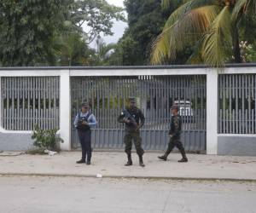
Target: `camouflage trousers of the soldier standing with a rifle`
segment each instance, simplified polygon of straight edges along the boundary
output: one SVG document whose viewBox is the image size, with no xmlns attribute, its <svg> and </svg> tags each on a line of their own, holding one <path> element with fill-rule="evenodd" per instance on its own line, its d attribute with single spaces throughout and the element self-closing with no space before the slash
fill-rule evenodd
<svg viewBox="0 0 256 213">
<path fill-rule="evenodd" d="M 138 156 L 143 156 L 144 150 L 142 147 L 142 137 L 139 131 L 125 131 L 125 153 L 127 153 L 127 155 L 131 155 L 132 141 L 134 141 Z"/>
</svg>

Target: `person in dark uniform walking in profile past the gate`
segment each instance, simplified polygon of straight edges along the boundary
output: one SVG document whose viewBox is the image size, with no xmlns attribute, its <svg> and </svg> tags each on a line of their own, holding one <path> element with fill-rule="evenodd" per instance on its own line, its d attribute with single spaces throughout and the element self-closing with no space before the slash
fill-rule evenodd
<svg viewBox="0 0 256 213">
<path fill-rule="evenodd" d="M 170 142 L 167 148 L 166 153 L 163 156 L 159 156 L 158 158 L 162 160 L 167 160 L 167 156 L 172 152 L 172 149 L 174 147 L 177 147 L 179 152 L 182 154 L 183 158 L 180 159 L 178 162 L 188 162 L 188 158 L 185 153 L 185 149 L 183 147 L 182 142 L 180 141 L 180 133 L 182 130 L 182 119 L 180 115 L 178 115 L 178 106 L 174 105 L 171 108 L 172 110 L 172 119 L 171 119 L 171 125 L 170 125 Z"/>
</svg>

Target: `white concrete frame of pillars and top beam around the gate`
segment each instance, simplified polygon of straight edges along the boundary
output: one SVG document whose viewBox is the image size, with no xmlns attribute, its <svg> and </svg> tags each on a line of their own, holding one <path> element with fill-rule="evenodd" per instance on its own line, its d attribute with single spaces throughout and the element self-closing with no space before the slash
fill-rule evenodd
<svg viewBox="0 0 256 213">
<path fill-rule="evenodd" d="M 219 73 L 218 73 L 219 72 Z M 60 94 L 60 130 L 64 139 L 61 149 L 71 150 L 71 120 L 70 120 L 70 77 L 73 76 L 137 76 L 137 75 L 207 75 L 207 154 L 218 153 L 218 74 L 222 73 L 256 73 L 256 65 L 250 67 L 229 67 L 225 70 L 207 69 L 206 67 L 115 67 L 115 68 L 1 68 L 1 77 L 21 76 L 59 76 L 61 84 Z M 0 81 L 1 82 L 1 81 Z M 0 85 L 1 88 L 1 85 Z M 0 90 L 1 94 L 1 90 Z M 0 110 L 1 116 L 1 110 Z M 0 126 L 0 134 L 31 134 L 25 131 L 3 130 Z M 221 135 L 222 138 L 225 135 Z M 227 135 L 228 136 L 228 135 Z M 255 135 L 250 135 L 255 136 Z M 1 142 L 1 141 L 0 141 Z"/>
</svg>

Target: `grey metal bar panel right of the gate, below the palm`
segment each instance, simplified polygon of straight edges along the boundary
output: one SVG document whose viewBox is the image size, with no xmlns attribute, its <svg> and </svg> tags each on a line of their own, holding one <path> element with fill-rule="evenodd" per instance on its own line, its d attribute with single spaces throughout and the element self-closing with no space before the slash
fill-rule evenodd
<svg viewBox="0 0 256 213">
<path fill-rule="evenodd" d="M 256 75 L 218 76 L 218 133 L 256 133 Z"/>
</svg>

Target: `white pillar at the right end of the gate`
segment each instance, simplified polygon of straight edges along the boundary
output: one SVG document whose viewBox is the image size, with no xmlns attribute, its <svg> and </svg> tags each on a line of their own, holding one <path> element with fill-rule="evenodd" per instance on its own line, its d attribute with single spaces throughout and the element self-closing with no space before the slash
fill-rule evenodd
<svg viewBox="0 0 256 213">
<path fill-rule="evenodd" d="M 218 146 L 218 70 L 207 72 L 207 154 L 217 154 Z"/>
</svg>

